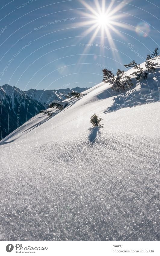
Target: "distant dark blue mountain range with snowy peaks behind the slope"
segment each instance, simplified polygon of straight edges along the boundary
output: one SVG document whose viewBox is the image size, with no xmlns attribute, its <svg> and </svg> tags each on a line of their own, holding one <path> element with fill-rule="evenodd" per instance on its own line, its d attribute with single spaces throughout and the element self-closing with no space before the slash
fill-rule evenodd
<svg viewBox="0 0 160 256">
<path fill-rule="evenodd" d="M 0 86 L 0 140 L 35 116 L 47 109 L 53 100 L 64 100 L 68 92 L 83 92 L 88 88 L 22 91 L 8 84 Z"/>
</svg>

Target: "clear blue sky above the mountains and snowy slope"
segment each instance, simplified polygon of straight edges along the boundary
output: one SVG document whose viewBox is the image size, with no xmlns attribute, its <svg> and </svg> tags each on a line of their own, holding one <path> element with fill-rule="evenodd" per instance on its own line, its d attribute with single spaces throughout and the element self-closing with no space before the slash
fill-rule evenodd
<svg viewBox="0 0 160 256">
<path fill-rule="evenodd" d="M 133 59 L 142 63 L 160 44 L 159 6 L 159 0 L 106 0 L 105 6 L 101 0 L 3 0 L 0 85 L 90 87 L 102 81 L 103 66 L 115 73 Z"/>
</svg>

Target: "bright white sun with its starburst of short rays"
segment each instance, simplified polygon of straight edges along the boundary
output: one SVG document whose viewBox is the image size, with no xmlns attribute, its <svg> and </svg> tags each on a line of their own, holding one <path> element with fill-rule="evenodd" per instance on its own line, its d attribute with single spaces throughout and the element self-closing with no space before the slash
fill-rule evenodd
<svg viewBox="0 0 160 256">
<path fill-rule="evenodd" d="M 127 24 L 121 22 L 122 18 L 127 15 L 121 11 L 125 4 L 124 1 L 122 0 L 118 5 L 114 6 L 115 1 L 109 1 L 110 4 L 108 5 L 106 0 L 102 0 L 101 4 L 99 0 L 94 0 L 94 4 L 91 6 L 87 1 L 80 0 L 85 8 L 83 8 L 83 11 L 79 11 L 82 19 L 79 26 L 86 27 L 86 35 L 93 32 L 89 43 L 93 43 L 95 38 L 99 36 L 101 43 L 104 43 L 105 38 L 107 38 L 109 44 L 115 48 L 111 33 L 124 37 L 119 28 L 127 28 Z"/>
</svg>

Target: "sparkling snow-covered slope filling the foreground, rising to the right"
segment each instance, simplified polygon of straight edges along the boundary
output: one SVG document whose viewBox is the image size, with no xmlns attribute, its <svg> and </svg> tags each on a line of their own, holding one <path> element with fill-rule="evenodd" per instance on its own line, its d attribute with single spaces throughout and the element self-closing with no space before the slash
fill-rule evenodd
<svg viewBox="0 0 160 256">
<path fill-rule="evenodd" d="M 50 108 L 52 117 L 40 113 L 2 140 L 2 240 L 159 239 L 155 61 L 156 71 L 132 90 L 118 94 L 98 84 L 61 112 Z M 91 127 L 94 113 L 103 128 Z"/>
</svg>

